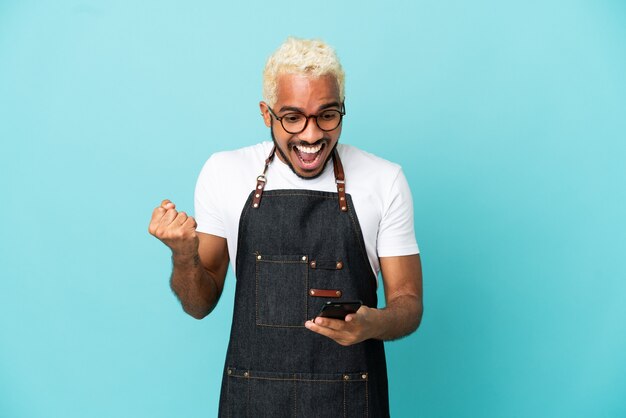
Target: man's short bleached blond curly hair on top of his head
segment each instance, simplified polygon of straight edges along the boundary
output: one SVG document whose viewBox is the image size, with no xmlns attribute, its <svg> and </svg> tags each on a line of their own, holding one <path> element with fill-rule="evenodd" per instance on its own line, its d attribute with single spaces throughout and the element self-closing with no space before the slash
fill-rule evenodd
<svg viewBox="0 0 626 418">
<path fill-rule="evenodd" d="M 263 100 L 270 106 L 278 99 L 281 74 L 331 75 L 337 80 L 339 99 L 344 101 L 345 73 L 335 50 L 323 41 L 290 36 L 267 59 L 263 70 Z"/>
</svg>

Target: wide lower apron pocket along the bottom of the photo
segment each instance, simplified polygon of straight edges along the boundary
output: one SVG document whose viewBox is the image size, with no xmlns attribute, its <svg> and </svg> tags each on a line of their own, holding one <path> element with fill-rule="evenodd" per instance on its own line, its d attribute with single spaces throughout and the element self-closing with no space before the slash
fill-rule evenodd
<svg viewBox="0 0 626 418">
<path fill-rule="evenodd" d="M 367 373 L 275 373 L 229 367 L 228 416 L 363 418 Z"/>
</svg>

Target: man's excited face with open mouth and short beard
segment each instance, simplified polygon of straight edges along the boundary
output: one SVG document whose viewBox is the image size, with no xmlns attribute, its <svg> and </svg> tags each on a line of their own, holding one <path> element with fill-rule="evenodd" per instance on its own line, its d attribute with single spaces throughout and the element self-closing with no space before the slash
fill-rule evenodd
<svg viewBox="0 0 626 418">
<path fill-rule="evenodd" d="M 283 74 L 278 78 L 278 98 L 272 110 L 278 117 L 300 112 L 318 115 L 324 110 L 341 110 L 339 87 L 333 76 L 308 77 Z M 278 157 L 302 178 L 319 176 L 330 159 L 341 134 L 341 124 L 332 131 L 322 131 L 310 118 L 306 129 L 291 134 L 274 118 L 265 102 L 260 103 L 265 125 L 272 131 Z"/>
</svg>

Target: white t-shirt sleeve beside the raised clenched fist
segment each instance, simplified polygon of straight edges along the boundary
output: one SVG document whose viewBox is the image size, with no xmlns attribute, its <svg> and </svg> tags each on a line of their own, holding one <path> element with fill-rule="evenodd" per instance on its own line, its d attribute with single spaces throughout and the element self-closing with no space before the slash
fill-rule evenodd
<svg viewBox="0 0 626 418">
<path fill-rule="evenodd" d="M 200 171 L 194 194 L 195 218 L 198 232 L 226 237 L 224 218 L 216 205 L 218 196 L 221 196 L 218 172 L 215 167 L 215 158 L 207 160 Z"/>
</svg>

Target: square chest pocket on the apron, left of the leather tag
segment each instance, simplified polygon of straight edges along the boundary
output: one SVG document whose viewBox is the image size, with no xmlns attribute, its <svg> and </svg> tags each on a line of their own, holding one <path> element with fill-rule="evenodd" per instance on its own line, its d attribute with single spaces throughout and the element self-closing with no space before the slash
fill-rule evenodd
<svg viewBox="0 0 626 418">
<path fill-rule="evenodd" d="M 266 255 L 256 259 L 256 324 L 304 327 L 307 318 L 308 257 Z"/>
</svg>

